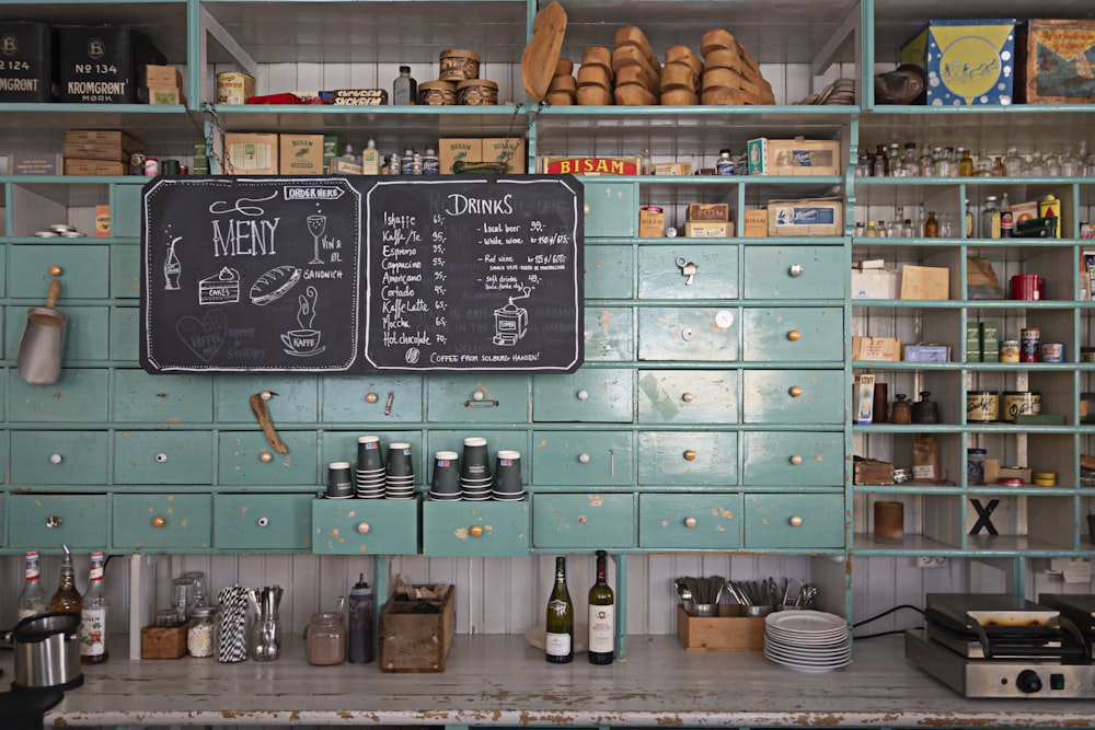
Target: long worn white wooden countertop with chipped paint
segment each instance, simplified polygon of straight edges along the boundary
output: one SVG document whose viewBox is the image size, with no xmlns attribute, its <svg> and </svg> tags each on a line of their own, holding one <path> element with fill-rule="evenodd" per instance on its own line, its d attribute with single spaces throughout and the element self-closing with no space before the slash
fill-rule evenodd
<svg viewBox="0 0 1095 730">
<path fill-rule="evenodd" d="M 458 636 L 445 671 L 425 674 L 311 667 L 296 637 L 269 663 L 112 658 L 84 668 L 84 685 L 45 725 L 1033 728 L 1095 716 L 1093 700 L 963 698 L 912 667 L 897 636 L 857 641 L 851 667 L 822 674 L 760 653 L 685 652 L 670 636 L 629 637 L 627 647 L 609 667 L 584 656 L 556 665 L 520 636 Z M 11 661 L 0 657 L 5 681 Z"/>
</svg>

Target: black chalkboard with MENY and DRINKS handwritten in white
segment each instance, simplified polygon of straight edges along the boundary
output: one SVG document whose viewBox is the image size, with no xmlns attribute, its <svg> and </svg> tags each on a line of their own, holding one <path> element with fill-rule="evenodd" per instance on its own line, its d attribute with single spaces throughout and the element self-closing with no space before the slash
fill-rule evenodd
<svg viewBox="0 0 1095 730">
<path fill-rule="evenodd" d="M 569 175 L 158 177 L 145 187 L 149 372 L 573 372 Z"/>
</svg>

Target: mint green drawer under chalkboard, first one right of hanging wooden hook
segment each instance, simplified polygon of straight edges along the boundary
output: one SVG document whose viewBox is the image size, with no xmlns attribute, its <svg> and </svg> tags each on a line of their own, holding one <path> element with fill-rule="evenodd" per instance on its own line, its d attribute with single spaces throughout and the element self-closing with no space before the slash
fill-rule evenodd
<svg viewBox="0 0 1095 730">
<path fill-rule="evenodd" d="M 417 375 L 324 378 L 320 414 L 326 424 L 396 425 L 422 420 Z"/>
</svg>

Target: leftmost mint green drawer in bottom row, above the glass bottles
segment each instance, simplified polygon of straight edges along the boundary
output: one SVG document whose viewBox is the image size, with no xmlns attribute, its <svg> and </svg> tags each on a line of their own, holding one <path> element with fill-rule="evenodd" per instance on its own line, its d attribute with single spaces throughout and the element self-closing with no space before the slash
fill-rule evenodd
<svg viewBox="0 0 1095 730">
<path fill-rule="evenodd" d="M 72 551 L 108 545 L 106 495 L 8 495 L 8 547 Z"/>
</svg>

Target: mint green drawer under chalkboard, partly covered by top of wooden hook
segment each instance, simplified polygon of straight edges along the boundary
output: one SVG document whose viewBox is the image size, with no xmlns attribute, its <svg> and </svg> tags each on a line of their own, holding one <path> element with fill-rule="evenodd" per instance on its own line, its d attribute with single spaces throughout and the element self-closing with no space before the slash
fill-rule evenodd
<svg viewBox="0 0 1095 730">
<path fill-rule="evenodd" d="M 254 424 L 251 396 L 275 393 L 266 407 L 277 427 L 286 424 L 314 424 L 319 415 L 320 386 L 315 375 L 215 375 L 214 417 L 221 422 Z"/>
</svg>

